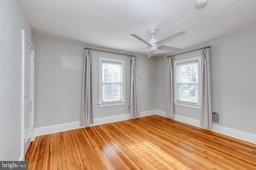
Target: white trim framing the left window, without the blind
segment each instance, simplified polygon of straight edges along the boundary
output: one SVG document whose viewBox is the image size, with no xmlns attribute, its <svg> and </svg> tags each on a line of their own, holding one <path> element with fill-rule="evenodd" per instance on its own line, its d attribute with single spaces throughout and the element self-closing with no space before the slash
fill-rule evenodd
<svg viewBox="0 0 256 170">
<path fill-rule="evenodd" d="M 122 63 L 122 101 L 120 102 L 104 102 L 102 103 L 102 62 L 103 61 L 107 61 L 107 62 L 111 62 L 111 63 Z M 120 105 L 124 105 L 125 104 L 125 98 L 124 98 L 124 60 L 117 60 L 117 59 L 109 59 L 109 58 L 102 58 L 99 57 L 99 107 L 108 107 L 108 106 L 120 106 Z"/>
</svg>

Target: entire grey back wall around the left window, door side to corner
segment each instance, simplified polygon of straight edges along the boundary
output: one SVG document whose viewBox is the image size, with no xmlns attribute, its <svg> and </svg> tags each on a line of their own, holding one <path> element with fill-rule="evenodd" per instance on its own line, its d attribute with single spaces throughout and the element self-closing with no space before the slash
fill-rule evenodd
<svg viewBox="0 0 256 170">
<path fill-rule="evenodd" d="M 40 36 L 35 37 L 35 46 L 35 127 L 80 121 L 84 47 L 90 46 Z M 125 105 L 98 107 L 99 57 L 125 61 Z M 156 108 L 155 61 L 137 56 L 140 111 Z M 129 113 L 130 65 L 128 56 L 92 50 L 94 119 Z"/>
</svg>

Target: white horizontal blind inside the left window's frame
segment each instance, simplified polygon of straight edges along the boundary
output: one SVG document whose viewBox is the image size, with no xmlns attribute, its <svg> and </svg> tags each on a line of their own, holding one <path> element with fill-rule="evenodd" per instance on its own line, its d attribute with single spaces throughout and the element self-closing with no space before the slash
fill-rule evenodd
<svg viewBox="0 0 256 170">
<path fill-rule="evenodd" d="M 122 101 L 122 63 L 102 61 L 102 103 Z"/>
</svg>

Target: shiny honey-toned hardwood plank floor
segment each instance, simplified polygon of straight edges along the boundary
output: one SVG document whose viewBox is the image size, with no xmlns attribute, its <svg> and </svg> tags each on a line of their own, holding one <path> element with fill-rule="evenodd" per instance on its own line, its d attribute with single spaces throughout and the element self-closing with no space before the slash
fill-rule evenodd
<svg viewBox="0 0 256 170">
<path fill-rule="evenodd" d="M 36 137 L 29 170 L 253 170 L 256 145 L 158 115 Z"/>
</svg>

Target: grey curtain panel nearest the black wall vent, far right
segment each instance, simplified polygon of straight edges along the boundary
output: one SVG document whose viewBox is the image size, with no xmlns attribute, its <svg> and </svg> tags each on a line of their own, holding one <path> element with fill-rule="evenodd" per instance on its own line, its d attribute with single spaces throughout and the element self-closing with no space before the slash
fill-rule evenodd
<svg viewBox="0 0 256 170">
<path fill-rule="evenodd" d="M 202 51 L 202 99 L 200 125 L 212 129 L 212 92 L 210 73 L 210 48 Z"/>
</svg>

